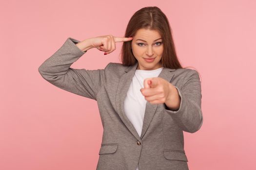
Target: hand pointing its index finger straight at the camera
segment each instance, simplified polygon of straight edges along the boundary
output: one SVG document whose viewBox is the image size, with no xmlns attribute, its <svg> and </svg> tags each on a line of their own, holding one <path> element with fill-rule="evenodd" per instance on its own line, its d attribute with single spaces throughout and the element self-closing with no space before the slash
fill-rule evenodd
<svg viewBox="0 0 256 170">
<path fill-rule="evenodd" d="M 140 89 L 145 100 L 151 104 L 165 103 L 171 110 L 177 110 L 180 97 L 177 88 L 160 77 L 146 78 L 144 88 Z"/>
</svg>

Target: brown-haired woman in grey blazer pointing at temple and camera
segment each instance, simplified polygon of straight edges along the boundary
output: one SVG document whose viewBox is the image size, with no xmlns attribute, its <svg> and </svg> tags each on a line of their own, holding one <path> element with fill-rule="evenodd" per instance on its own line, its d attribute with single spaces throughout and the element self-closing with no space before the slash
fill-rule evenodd
<svg viewBox="0 0 256 170">
<path fill-rule="evenodd" d="M 122 64 L 86 70 L 70 66 L 86 51 L 109 54 L 123 42 Z M 96 100 L 103 125 L 97 170 L 188 170 L 183 131 L 202 125 L 196 70 L 178 62 L 167 17 L 158 7 L 138 10 L 125 37 L 69 37 L 39 67 L 66 91 Z"/>
</svg>

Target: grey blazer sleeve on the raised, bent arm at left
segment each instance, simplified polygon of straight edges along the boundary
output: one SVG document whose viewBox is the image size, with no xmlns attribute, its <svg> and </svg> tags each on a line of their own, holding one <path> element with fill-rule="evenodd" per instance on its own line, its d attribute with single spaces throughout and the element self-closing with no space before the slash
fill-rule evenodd
<svg viewBox="0 0 256 170">
<path fill-rule="evenodd" d="M 38 68 L 40 75 L 52 85 L 71 93 L 96 100 L 100 87 L 105 82 L 104 69 L 75 69 L 70 66 L 87 51 L 81 51 L 79 40 L 68 37 L 64 44 Z"/>
</svg>

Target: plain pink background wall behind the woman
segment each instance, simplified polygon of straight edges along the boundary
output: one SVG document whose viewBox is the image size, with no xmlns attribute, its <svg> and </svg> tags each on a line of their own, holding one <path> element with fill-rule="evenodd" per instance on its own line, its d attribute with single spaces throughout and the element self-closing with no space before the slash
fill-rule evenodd
<svg viewBox="0 0 256 170">
<path fill-rule="evenodd" d="M 204 122 L 184 132 L 190 170 L 256 169 L 255 0 L 5 0 L 0 5 L 0 170 L 95 170 L 97 102 L 46 82 L 40 64 L 68 37 L 123 36 L 132 15 L 158 6 L 183 67 L 202 83 Z M 72 68 L 119 63 L 88 51 Z"/>
</svg>

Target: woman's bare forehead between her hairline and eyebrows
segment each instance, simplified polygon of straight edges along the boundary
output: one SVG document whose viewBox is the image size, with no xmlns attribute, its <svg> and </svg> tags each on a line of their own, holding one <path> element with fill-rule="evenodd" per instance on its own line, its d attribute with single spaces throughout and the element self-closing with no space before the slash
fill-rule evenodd
<svg viewBox="0 0 256 170">
<path fill-rule="evenodd" d="M 141 28 L 136 32 L 134 36 L 135 40 L 138 38 L 146 41 L 154 41 L 157 38 L 161 38 L 161 35 L 159 34 L 158 30 L 149 30 Z"/>
</svg>

